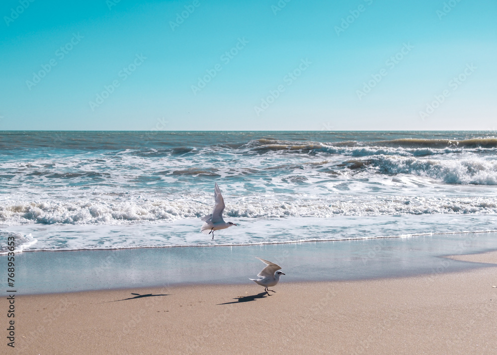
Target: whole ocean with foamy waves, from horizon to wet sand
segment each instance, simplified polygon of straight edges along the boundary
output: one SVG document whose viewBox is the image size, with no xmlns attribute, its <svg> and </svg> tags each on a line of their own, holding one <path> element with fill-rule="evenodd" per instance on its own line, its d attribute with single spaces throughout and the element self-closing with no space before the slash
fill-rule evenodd
<svg viewBox="0 0 497 355">
<path fill-rule="evenodd" d="M 4 131 L 0 253 L 497 231 L 496 185 L 496 132 Z"/>
</svg>

